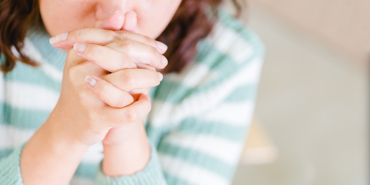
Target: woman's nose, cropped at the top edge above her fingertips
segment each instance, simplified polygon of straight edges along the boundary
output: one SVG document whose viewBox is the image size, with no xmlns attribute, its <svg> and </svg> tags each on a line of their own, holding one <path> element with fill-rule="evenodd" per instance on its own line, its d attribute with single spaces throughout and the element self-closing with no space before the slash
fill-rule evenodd
<svg viewBox="0 0 370 185">
<path fill-rule="evenodd" d="M 95 16 L 97 20 L 102 20 L 109 17 L 117 10 L 123 12 L 133 9 L 135 0 L 98 0 L 95 7 Z"/>
</svg>

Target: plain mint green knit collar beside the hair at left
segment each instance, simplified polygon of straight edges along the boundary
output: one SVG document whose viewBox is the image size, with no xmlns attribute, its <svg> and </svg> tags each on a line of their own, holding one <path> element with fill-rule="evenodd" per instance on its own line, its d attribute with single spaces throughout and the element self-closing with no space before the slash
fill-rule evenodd
<svg viewBox="0 0 370 185">
<path fill-rule="evenodd" d="M 26 38 L 31 41 L 44 60 L 58 70 L 63 71 L 67 53 L 62 49 L 51 46 L 49 42 L 50 36 L 45 29 L 30 28 L 27 31 Z"/>
</svg>

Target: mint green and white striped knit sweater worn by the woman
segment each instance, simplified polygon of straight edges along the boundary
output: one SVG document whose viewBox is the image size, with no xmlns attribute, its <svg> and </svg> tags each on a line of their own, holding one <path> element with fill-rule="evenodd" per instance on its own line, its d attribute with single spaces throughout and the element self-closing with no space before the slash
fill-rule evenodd
<svg viewBox="0 0 370 185">
<path fill-rule="evenodd" d="M 22 185 L 23 145 L 46 121 L 61 90 L 66 53 L 47 33 L 28 31 L 24 53 L 39 67 L 17 62 L 0 73 L 0 184 Z M 92 145 L 71 185 L 231 184 L 252 118 L 264 48 L 258 36 L 225 11 L 197 45 L 194 62 L 152 87 L 144 118 L 151 157 L 141 171 L 101 172 L 101 142 Z M 1 58 L 4 62 L 4 57 Z"/>
</svg>

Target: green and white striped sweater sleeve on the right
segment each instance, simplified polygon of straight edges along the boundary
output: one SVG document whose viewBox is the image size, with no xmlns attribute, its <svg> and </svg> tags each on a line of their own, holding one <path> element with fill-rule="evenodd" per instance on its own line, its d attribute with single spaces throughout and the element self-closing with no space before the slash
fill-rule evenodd
<svg viewBox="0 0 370 185">
<path fill-rule="evenodd" d="M 158 87 L 151 121 L 152 127 L 171 125 L 161 131 L 157 148 L 167 184 L 232 183 L 252 120 L 264 56 L 256 35 L 239 37 L 245 31 L 249 30 L 222 30 L 218 40 L 199 43 L 206 51 L 194 66 L 169 74 Z"/>
</svg>

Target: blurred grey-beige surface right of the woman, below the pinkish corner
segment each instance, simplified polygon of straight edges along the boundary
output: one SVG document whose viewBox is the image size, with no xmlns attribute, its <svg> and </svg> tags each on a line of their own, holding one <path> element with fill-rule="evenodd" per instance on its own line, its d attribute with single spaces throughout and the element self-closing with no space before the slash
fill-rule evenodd
<svg viewBox="0 0 370 185">
<path fill-rule="evenodd" d="M 279 154 L 240 165 L 233 185 L 369 185 L 369 75 L 323 36 L 249 8 L 266 48 L 255 115 Z"/>
</svg>

